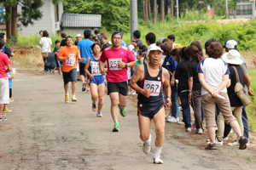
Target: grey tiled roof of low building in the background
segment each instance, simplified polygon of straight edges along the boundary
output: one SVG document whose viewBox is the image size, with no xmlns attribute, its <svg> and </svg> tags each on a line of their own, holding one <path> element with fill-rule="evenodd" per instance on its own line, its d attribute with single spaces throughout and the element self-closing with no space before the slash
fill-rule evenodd
<svg viewBox="0 0 256 170">
<path fill-rule="evenodd" d="M 66 14 L 61 15 L 61 27 L 102 27 L 101 14 Z"/>
</svg>

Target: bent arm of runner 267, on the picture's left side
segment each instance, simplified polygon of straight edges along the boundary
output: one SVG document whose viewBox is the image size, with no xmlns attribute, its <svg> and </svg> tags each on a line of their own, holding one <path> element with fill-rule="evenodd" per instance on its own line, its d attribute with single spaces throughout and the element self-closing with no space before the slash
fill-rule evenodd
<svg viewBox="0 0 256 170">
<path fill-rule="evenodd" d="M 140 65 L 137 67 L 133 76 L 131 77 L 129 86 L 131 86 L 131 88 L 133 88 L 135 91 L 137 91 L 137 93 L 143 94 L 145 97 L 149 98 L 149 96 L 151 94 L 151 90 L 148 88 L 147 89 L 140 88 L 137 85 L 138 81 L 143 80 L 143 74 L 144 74 L 144 65 Z"/>
</svg>

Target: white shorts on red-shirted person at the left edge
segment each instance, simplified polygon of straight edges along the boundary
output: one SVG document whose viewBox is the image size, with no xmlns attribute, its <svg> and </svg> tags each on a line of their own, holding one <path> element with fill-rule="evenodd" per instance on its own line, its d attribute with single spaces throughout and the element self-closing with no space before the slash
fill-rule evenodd
<svg viewBox="0 0 256 170">
<path fill-rule="evenodd" d="M 9 81 L 8 81 L 8 77 L 0 78 L 0 104 L 9 105 Z"/>
</svg>

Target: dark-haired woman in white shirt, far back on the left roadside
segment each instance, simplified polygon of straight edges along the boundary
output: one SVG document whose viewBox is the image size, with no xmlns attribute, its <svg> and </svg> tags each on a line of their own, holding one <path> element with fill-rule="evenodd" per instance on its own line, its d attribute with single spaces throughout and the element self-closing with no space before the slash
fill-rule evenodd
<svg viewBox="0 0 256 170">
<path fill-rule="evenodd" d="M 39 44 L 41 44 L 41 53 L 44 59 L 44 71 L 49 71 L 49 69 L 45 68 L 45 64 L 47 63 L 47 58 L 50 52 L 50 45 L 52 44 L 48 31 L 43 31 L 43 37 L 41 37 Z"/>
</svg>

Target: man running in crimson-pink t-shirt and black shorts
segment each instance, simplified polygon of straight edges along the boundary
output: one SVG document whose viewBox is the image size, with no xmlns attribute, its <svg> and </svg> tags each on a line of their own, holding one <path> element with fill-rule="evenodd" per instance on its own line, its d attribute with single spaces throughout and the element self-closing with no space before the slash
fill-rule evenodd
<svg viewBox="0 0 256 170">
<path fill-rule="evenodd" d="M 121 116 L 126 116 L 125 105 L 127 100 L 127 67 L 136 65 L 133 54 L 128 48 L 122 47 L 122 33 L 114 31 L 112 34 L 113 46 L 106 48 L 102 52 L 100 59 L 100 69 L 105 75 L 104 63 L 108 61 L 108 95 L 111 99 L 111 115 L 114 122 L 113 132 L 119 132 L 119 111 Z"/>
</svg>

